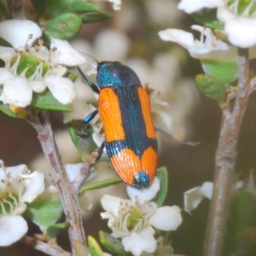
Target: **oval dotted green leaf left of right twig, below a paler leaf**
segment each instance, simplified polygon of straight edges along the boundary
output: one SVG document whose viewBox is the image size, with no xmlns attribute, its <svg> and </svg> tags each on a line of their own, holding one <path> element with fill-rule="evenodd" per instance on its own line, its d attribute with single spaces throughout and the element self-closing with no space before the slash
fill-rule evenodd
<svg viewBox="0 0 256 256">
<path fill-rule="evenodd" d="M 195 84 L 205 96 L 218 102 L 221 106 L 224 105 L 225 88 L 218 79 L 199 74 L 195 77 Z"/>
</svg>

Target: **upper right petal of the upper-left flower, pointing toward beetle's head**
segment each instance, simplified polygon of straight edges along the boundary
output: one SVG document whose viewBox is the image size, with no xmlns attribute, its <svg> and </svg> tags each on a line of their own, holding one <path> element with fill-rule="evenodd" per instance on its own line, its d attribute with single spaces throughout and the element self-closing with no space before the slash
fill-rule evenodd
<svg viewBox="0 0 256 256">
<path fill-rule="evenodd" d="M 55 61 L 58 64 L 66 65 L 68 67 L 78 66 L 84 64 L 86 61 L 84 56 L 65 40 L 51 38 L 50 49 L 55 50 Z"/>
</svg>

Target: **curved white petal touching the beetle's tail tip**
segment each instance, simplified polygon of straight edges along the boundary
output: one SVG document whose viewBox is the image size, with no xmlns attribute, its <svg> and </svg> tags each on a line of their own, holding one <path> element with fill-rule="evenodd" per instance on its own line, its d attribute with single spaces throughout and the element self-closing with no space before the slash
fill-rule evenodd
<svg viewBox="0 0 256 256">
<path fill-rule="evenodd" d="M 126 192 L 132 201 L 139 201 L 144 203 L 154 198 L 160 189 L 160 180 L 158 177 L 154 177 L 154 182 L 146 189 L 136 189 L 131 186 L 126 187 Z"/>
</svg>

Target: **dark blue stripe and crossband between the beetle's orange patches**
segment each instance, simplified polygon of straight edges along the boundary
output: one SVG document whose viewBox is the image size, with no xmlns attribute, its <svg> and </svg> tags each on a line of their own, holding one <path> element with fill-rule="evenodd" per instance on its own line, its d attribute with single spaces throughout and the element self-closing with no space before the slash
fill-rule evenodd
<svg viewBox="0 0 256 256">
<path fill-rule="evenodd" d="M 140 85 L 112 86 L 114 93 L 119 99 L 119 111 L 122 117 L 125 139 L 106 142 L 109 158 L 114 154 L 118 154 L 123 148 L 130 148 L 139 158 L 142 157 L 143 152 L 148 147 L 154 148 L 157 152 L 156 139 L 148 138 L 147 136 L 142 106 L 138 95 L 139 87 Z"/>
</svg>

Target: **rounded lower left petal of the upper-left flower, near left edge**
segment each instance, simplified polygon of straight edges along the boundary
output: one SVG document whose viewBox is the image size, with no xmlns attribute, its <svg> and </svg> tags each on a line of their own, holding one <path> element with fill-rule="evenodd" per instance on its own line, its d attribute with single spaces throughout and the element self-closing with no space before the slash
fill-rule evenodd
<svg viewBox="0 0 256 256">
<path fill-rule="evenodd" d="M 32 88 L 26 79 L 20 77 L 6 79 L 0 101 L 24 108 L 32 101 Z"/>
</svg>

